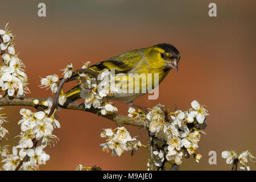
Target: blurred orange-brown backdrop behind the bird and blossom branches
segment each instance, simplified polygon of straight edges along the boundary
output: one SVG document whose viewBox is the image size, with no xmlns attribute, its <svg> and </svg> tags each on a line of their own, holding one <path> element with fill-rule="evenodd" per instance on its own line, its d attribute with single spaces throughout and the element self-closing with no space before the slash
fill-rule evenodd
<svg viewBox="0 0 256 182">
<path fill-rule="evenodd" d="M 158 100 L 143 96 L 135 104 L 160 104 L 188 109 L 191 101 L 207 105 L 207 135 L 202 135 L 200 163 L 185 159 L 183 170 L 229 170 L 221 158 L 224 150 L 242 152 L 255 146 L 255 1 L 43 1 L 46 18 L 39 18 L 42 1 L 1 2 L 0 22 L 7 22 L 16 36 L 16 51 L 26 65 L 31 94 L 53 97 L 40 89 L 40 77 L 57 73 L 73 63 L 97 63 L 130 49 L 170 43 L 181 53 L 179 73 L 171 71 L 160 84 Z M 217 17 L 208 16 L 210 2 L 217 3 Z M 68 89 L 72 85 L 66 87 Z M 118 112 L 127 106 L 115 102 Z M 5 107 L 9 123 L 9 144 L 16 145 L 21 107 Z M 61 129 L 54 134 L 60 141 L 47 147 L 51 156 L 42 170 L 73 170 L 78 164 L 97 164 L 104 170 L 144 170 L 147 151 L 141 148 L 130 156 L 110 156 L 99 147 L 102 129 L 115 127 L 112 121 L 81 111 L 61 110 Z M 127 127 L 146 142 L 144 129 Z M 2 143 L 2 144 L 6 144 Z M 208 152 L 217 152 L 217 165 L 209 165 Z M 249 163 L 252 170 L 255 163 Z"/>
</svg>

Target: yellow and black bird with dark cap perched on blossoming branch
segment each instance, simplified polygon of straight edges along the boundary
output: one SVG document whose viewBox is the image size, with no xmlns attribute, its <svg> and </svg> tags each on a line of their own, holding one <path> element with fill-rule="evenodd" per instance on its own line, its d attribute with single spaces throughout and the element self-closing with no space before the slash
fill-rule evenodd
<svg viewBox="0 0 256 182">
<path fill-rule="evenodd" d="M 104 69 L 114 69 L 115 74 L 122 75 L 123 77 L 128 77 L 130 73 L 136 74 L 141 79 L 139 84 L 134 84 L 134 87 L 139 85 L 139 93 L 121 92 L 115 94 L 113 97 L 109 97 L 110 100 L 126 101 L 127 103 L 133 102 L 137 97 L 142 96 L 145 92 L 142 92 L 143 86 L 146 88 L 154 89 L 156 86 L 163 81 L 168 72 L 171 69 L 178 71 L 177 64 L 180 60 L 180 53 L 171 44 L 156 44 L 155 46 L 134 49 L 131 51 L 123 52 L 117 56 L 113 56 L 105 61 L 94 64 L 90 67 L 93 71 L 101 73 Z M 158 81 L 154 81 L 154 77 L 148 76 L 148 73 L 154 75 L 158 74 Z M 146 75 L 146 81 L 142 80 L 141 75 Z M 118 78 L 119 80 L 120 77 Z M 126 78 L 129 80 L 128 78 Z M 136 80 L 136 79 L 135 79 Z M 148 87 L 148 84 L 151 87 Z M 122 90 L 127 90 L 127 86 L 123 86 Z M 135 88 L 136 89 L 136 88 Z M 150 92 L 152 89 L 147 89 L 146 93 Z M 66 93 L 68 100 L 75 100 L 79 98 L 81 88 L 79 85 L 75 86 L 73 89 Z"/>
</svg>

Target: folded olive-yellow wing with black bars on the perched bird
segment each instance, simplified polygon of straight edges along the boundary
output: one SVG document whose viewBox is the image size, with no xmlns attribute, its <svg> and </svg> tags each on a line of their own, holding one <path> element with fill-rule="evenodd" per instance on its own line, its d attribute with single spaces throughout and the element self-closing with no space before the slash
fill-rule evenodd
<svg viewBox="0 0 256 182">
<path fill-rule="evenodd" d="M 129 73 L 138 62 L 142 60 L 142 50 L 127 51 L 110 59 L 94 64 L 90 67 L 93 71 L 101 73 L 103 69 L 115 69 L 115 73 Z"/>
</svg>

